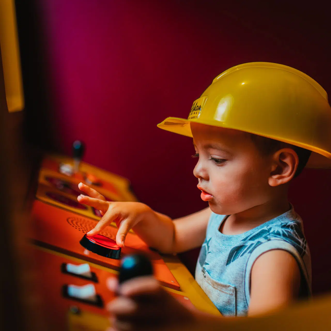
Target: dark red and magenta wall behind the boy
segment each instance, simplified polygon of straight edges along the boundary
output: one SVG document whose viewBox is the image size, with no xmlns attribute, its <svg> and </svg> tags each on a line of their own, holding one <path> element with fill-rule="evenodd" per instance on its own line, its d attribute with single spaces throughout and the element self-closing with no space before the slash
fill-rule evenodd
<svg viewBox="0 0 331 331">
<path fill-rule="evenodd" d="M 328 9 L 316 3 L 37 3 L 52 105 L 45 111 L 57 149 L 70 154 L 72 141 L 82 139 L 86 162 L 129 178 L 142 202 L 172 217 L 206 205 L 192 174 L 191 139 L 156 124 L 186 118 L 217 74 L 240 63 L 276 62 L 331 93 Z M 330 184 L 330 170 L 305 170 L 290 192 L 305 221 L 315 293 L 331 290 Z M 182 258 L 192 269 L 193 255 Z"/>
</svg>

